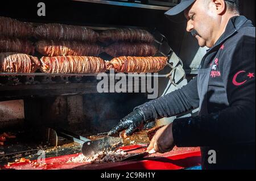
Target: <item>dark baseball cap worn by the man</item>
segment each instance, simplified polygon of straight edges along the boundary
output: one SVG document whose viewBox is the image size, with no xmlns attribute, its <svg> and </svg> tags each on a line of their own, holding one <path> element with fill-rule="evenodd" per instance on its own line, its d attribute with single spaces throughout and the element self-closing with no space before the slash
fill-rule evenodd
<svg viewBox="0 0 256 181">
<path fill-rule="evenodd" d="M 196 0 L 181 0 L 181 2 L 172 7 L 172 9 L 166 11 L 164 14 L 172 20 L 173 22 L 183 22 L 185 20 L 185 16 L 183 11 L 191 6 Z M 238 0 L 225 0 L 229 2 L 238 3 Z"/>
</svg>

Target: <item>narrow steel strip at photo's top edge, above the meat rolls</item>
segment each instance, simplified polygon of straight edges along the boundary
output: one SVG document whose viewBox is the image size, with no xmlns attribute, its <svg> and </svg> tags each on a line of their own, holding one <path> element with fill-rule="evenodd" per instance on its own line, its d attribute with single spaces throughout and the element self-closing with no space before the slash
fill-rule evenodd
<svg viewBox="0 0 256 181">
<path fill-rule="evenodd" d="M 104 0 L 73 0 L 73 1 L 101 3 L 105 5 L 114 5 L 114 6 L 138 7 L 138 8 L 153 9 L 153 10 L 170 10 L 171 8 L 167 6 L 144 5 L 141 3 L 118 2 L 118 1 L 104 1 Z"/>
</svg>

